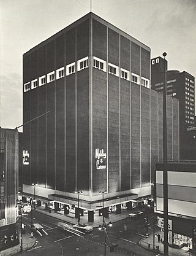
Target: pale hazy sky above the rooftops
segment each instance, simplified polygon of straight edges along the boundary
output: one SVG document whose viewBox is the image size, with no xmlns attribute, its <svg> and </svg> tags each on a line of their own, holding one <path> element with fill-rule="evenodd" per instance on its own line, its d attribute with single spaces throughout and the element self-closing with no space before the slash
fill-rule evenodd
<svg viewBox="0 0 196 256">
<path fill-rule="evenodd" d="M 2 128 L 23 123 L 23 53 L 88 12 L 90 0 L 0 0 Z M 92 12 L 196 76 L 196 0 L 92 0 Z"/>
</svg>

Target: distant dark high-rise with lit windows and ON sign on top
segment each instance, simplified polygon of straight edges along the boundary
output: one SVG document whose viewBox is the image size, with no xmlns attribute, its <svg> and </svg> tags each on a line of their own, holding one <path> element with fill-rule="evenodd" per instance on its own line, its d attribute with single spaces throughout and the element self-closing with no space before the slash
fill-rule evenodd
<svg viewBox="0 0 196 256">
<path fill-rule="evenodd" d="M 151 60 L 151 88 L 163 91 L 163 61 L 161 57 Z M 195 78 L 186 71 L 167 71 L 167 95 L 179 99 L 179 145 L 181 159 L 196 159 L 193 133 L 195 116 Z"/>
</svg>

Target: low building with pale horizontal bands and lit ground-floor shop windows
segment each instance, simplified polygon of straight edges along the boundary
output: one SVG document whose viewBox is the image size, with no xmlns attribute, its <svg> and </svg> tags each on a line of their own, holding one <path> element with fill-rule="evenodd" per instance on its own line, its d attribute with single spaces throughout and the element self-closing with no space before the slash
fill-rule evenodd
<svg viewBox="0 0 196 256">
<path fill-rule="evenodd" d="M 157 225 L 163 236 L 163 163 L 156 163 Z M 172 247 L 196 252 L 196 162 L 168 162 L 168 238 Z"/>
</svg>

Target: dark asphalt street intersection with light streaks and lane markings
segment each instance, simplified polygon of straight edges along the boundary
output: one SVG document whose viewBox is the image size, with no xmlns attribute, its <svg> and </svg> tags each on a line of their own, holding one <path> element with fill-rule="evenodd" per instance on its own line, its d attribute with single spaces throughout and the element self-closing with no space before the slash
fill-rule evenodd
<svg viewBox="0 0 196 256">
<path fill-rule="evenodd" d="M 34 223 L 41 224 L 48 236 L 35 235 L 37 245 L 34 249 L 26 252 L 26 255 L 40 255 L 40 256 L 104 256 L 104 231 L 99 231 L 98 228 L 90 233 L 85 233 L 77 236 L 70 231 L 65 231 L 58 227 L 58 220 L 40 214 L 34 211 Z M 112 227 L 107 227 L 107 254 L 110 254 L 110 244 L 118 243 L 115 247 L 113 256 L 148 256 L 157 255 L 157 253 L 150 252 L 138 246 L 137 242 L 146 233 L 145 215 L 140 215 L 136 218 L 124 219 L 113 223 Z M 152 216 L 149 215 L 149 222 L 152 222 Z M 107 223 L 107 219 L 106 219 Z M 25 217 L 26 229 L 31 231 L 31 214 Z M 152 232 L 149 226 L 149 233 Z"/>
</svg>

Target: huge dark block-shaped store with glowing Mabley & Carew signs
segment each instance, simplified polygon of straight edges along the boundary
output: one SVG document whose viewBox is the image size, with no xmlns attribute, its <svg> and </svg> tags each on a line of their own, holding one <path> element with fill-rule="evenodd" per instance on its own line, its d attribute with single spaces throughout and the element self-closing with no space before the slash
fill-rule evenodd
<svg viewBox="0 0 196 256">
<path fill-rule="evenodd" d="M 150 48 L 92 13 L 26 52 L 23 194 L 37 184 L 36 198 L 69 214 L 83 192 L 89 221 L 99 192 L 105 215 L 150 195 L 162 100 L 150 88 Z M 178 158 L 178 100 L 168 106 L 168 155 Z"/>
</svg>

